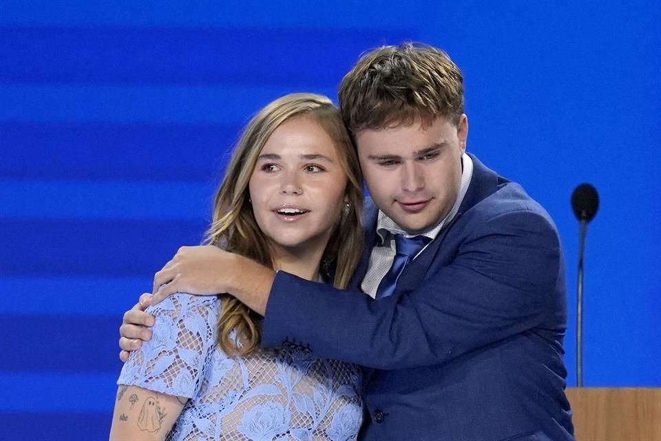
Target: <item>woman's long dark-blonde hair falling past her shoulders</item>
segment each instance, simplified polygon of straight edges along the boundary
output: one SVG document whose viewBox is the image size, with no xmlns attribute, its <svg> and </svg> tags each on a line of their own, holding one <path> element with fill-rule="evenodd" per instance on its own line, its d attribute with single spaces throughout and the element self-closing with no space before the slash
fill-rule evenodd
<svg viewBox="0 0 661 441">
<path fill-rule="evenodd" d="M 258 156 L 277 127 L 293 118 L 310 118 L 335 142 L 347 176 L 348 202 L 335 224 L 322 257 L 322 275 L 338 288 L 348 285 L 362 253 L 363 183 L 357 154 L 339 110 L 328 97 L 297 93 L 266 105 L 251 119 L 235 147 L 213 204 L 213 221 L 204 243 L 216 245 L 273 268 L 266 236 L 255 220 L 249 181 Z M 236 335 L 233 335 L 233 330 Z M 229 354 L 246 356 L 261 340 L 261 318 L 231 296 L 223 299 L 218 318 L 218 344 Z"/>
</svg>

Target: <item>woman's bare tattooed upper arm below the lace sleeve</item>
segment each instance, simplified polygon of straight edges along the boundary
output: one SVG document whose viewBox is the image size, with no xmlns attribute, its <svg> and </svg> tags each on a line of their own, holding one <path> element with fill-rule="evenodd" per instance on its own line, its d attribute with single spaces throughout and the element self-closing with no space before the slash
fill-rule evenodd
<svg viewBox="0 0 661 441">
<path fill-rule="evenodd" d="M 111 441 L 161 441 L 188 398 L 120 384 L 110 429 Z"/>
</svg>

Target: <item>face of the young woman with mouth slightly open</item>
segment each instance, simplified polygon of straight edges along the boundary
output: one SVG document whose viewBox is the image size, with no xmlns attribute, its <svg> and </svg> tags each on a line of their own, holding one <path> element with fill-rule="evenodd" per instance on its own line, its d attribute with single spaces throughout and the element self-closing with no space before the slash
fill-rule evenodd
<svg viewBox="0 0 661 441">
<path fill-rule="evenodd" d="M 255 219 L 276 252 L 322 251 L 346 183 L 335 143 L 313 119 L 298 116 L 277 127 L 249 183 Z"/>
</svg>

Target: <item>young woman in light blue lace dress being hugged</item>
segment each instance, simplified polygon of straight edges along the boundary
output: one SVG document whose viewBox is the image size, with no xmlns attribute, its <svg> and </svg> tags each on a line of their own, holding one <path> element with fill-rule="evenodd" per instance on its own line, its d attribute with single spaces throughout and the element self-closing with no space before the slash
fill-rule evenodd
<svg viewBox="0 0 661 441">
<path fill-rule="evenodd" d="M 287 95 L 246 127 L 206 242 L 346 287 L 362 198 L 339 110 L 325 96 Z M 260 349 L 259 316 L 230 296 L 175 294 L 147 311 L 154 336 L 122 369 L 111 440 L 357 438 L 357 367 L 297 346 Z"/>
</svg>

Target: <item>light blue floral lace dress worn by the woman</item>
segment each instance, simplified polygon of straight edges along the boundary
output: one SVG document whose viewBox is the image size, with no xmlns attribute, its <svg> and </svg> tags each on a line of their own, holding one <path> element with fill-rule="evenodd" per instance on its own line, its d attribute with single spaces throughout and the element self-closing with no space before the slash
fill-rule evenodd
<svg viewBox="0 0 661 441">
<path fill-rule="evenodd" d="M 149 307 L 154 336 L 117 381 L 189 398 L 167 440 L 355 440 L 359 369 L 300 347 L 227 356 L 216 345 L 221 302 L 176 294 Z"/>
</svg>

